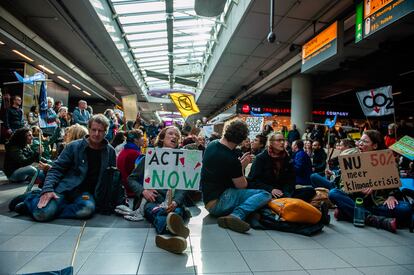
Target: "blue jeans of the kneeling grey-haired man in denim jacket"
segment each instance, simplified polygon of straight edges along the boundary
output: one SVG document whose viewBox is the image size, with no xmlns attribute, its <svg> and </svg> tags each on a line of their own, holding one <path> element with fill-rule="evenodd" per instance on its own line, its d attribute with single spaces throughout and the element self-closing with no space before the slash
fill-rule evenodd
<svg viewBox="0 0 414 275">
<path fill-rule="evenodd" d="M 34 220 L 46 222 L 55 218 L 87 219 L 95 212 L 95 200 L 87 192 L 77 196 L 73 201 L 65 199 L 63 194 L 56 195 L 59 196 L 59 199 L 50 200 L 43 208 L 37 207 L 41 196 L 39 193 L 32 193 L 26 197 L 24 203 Z M 83 195 L 87 195 L 89 198 L 85 200 L 82 198 Z"/>
</svg>

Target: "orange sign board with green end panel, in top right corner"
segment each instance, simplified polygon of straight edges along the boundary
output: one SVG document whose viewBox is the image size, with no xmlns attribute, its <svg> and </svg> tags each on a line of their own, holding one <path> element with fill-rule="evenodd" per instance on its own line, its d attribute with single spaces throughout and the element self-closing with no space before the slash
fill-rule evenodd
<svg viewBox="0 0 414 275">
<path fill-rule="evenodd" d="M 356 6 L 355 42 L 376 33 L 413 11 L 414 0 L 364 0 L 363 4 Z"/>
</svg>

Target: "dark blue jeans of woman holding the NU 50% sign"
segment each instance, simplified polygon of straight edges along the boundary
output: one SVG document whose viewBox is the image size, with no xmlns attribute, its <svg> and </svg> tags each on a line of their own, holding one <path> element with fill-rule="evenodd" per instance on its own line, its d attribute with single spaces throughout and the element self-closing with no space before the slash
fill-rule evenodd
<svg viewBox="0 0 414 275">
<path fill-rule="evenodd" d="M 344 220 L 353 221 L 355 201 L 345 192 L 335 188 L 329 191 L 329 200 L 336 204 L 340 215 Z M 366 214 L 374 214 L 389 218 L 396 218 L 399 226 L 408 226 L 411 221 L 412 208 L 408 202 L 398 201 L 394 209 L 388 209 L 386 205 L 366 207 Z"/>
</svg>

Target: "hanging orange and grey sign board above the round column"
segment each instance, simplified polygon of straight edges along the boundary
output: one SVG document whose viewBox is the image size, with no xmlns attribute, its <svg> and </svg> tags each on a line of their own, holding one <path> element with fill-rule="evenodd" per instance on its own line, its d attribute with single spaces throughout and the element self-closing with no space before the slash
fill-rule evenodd
<svg viewBox="0 0 414 275">
<path fill-rule="evenodd" d="M 341 24 L 342 25 L 342 24 Z M 338 34 L 342 29 L 338 21 L 327 27 L 302 47 L 302 70 L 306 72 L 338 53 Z"/>
</svg>

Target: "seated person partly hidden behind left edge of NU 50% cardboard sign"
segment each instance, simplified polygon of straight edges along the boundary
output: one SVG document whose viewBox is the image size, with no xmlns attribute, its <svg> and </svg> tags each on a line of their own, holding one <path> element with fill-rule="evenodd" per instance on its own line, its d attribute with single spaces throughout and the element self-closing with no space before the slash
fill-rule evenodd
<svg viewBox="0 0 414 275">
<path fill-rule="evenodd" d="M 355 148 L 355 142 L 349 138 L 342 139 L 339 142 L 339 150 L 341 151 L 341 156 L 359 152 L 359 150 Z M 323 187 L 329 190 L 339 187 L 341 170 L 339 168 L 338 158 L 331 159 L 329 166 L 329 168 L 325 169 L 325 176 L 322 176 L 319 173 L 313 173 L 311 175 L 310 180 L 313 187 Z"/>
</svg>

